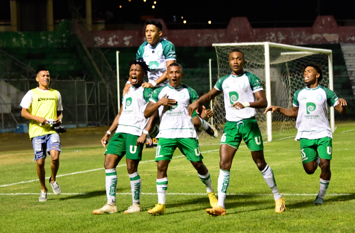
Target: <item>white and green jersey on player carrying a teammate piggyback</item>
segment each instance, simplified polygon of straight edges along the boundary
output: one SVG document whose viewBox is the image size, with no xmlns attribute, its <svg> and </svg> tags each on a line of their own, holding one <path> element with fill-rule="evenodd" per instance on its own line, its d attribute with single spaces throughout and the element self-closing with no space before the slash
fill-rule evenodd
<svg viewBox="0 0 355 233">
<path fill-rule="evenodd" d="M 116 133 L 142 135 L 142 131 L 148 123 L 148 119 L 144 117 L 144 110 L 152 92 L 152 88 L 130 87 L 130 91 L 122 98 L 122 113 L 118 120 Z"/>
</svg>

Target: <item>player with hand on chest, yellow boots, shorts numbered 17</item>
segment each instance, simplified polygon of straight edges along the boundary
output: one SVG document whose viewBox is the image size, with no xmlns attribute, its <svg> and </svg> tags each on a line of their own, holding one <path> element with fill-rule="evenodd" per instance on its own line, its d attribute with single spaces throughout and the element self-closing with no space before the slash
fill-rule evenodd
<svg viewBox="0 0 355 233">
<path fill-rule="evenodd" d="M 181 83 L 184 77 L 182 67 L 178 63 L 171 63 L 168 67 L 169 84 L 155 89 L 144 111 L 149 117 L 159 112 L 160 131 L 158 134 L 157 154 L 157 192 L 158 204 L 148 210 L 149 214 L 165 214 L 165 195 L 168 189 L 168 165 L 173 158 L 176 148 L 179 148 L 197 170 L 198 176 L 206 187 L 212 207 L 217 205 L 211 177 L 207 167 L 202 162 L 198 137 L 189 116 L 187 107 L 198 98 L 195 90 Z"/>
</svg>

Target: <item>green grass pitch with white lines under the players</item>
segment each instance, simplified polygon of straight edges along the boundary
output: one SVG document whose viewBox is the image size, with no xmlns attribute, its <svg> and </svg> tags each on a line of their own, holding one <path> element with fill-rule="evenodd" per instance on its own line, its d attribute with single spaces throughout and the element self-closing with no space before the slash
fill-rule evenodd
<svg viewBox="0 0 355 233">
<path fill-rule="evenodd" d="M 65 147 L 60 155 L 58 183 L 62 194 L 49 192 L 48 201 L 38 201 L 33 151 L 12 150 L 0 155 L 1 232 L 354 232 L 355 168 L 353 165 L 355 123 L 337 123 L 333 134 L 332 179 L 323 205 L 312 202 L 319 190 L 320 169 L 307 175 L 301 165 L 299 142 L 294 138 L 264 144 L 267 163 L 272 167 L 279 191 L 286 198 L 286 211 L 274 212 L 271 191 L 242 144 L 231 168 L 226 198 L 226 216 L 212 217 L 206 189 L 189 161 L 177 150 L 168 169 L 166 214 L 150 216 L 157 203 L 155 149 L 144 149 L 138 167 L 142 178 L 142 212 L 124 215 L 131 205 L 130 182 L 125 161 L 117 168 L 118 214 L 93 215 L 107 199 L 103 170 L 104 148 Z M 104 130 L 100 129 L 101 131 Z M 344 132 L 347 131 L 347 132 Z M 83 131 L 85 133 L 85 131 Z M 295 131 L 290 131 L 295 135 Z M 66 137 L 63 134 L 63 140 Z M 89 136 L 88 136 L 89 138 Z M 95 140 L 99 141 L 100 136 Z M 28 139 L 27 139 L 28 140 Z M 28 143 L 30 143 L 28 141 Z M 68 143 L 69 144 L 69 143 Z M 203 162 L 217 189 L 219 139 L 201 139 Z M 176 158 L 178 157 L 178 158 Z M 49 158 L 47 175 L 50 174 Z M 95 171 L 89 171 L 99 169 Z M 78 174 L 74 172 L 87 171 Z M 72 175 L 68 175 L 72 174 Z M 4 186 L 5 184 L 12 184 Z M 48 188 L 49 185 L 47 186 Z M 24 195 L 4 195 L 4 194 Z M 25 194 L 28 193 L 28 194 Z M 189 195 L 187 195 L 189 194 Z"/>
</svg>

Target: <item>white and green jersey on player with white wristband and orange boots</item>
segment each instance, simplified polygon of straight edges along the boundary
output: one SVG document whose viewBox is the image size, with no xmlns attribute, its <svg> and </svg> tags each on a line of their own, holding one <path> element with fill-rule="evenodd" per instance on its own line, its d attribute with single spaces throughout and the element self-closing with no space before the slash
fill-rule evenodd
<svg viewBox="0 0 355 233">
<path fill-rule="evenodd" d="M 225 118 L 228 121 L 248 119 L 256 114 L 255 108 L 235 109 L 232 105 L 236 102 L 254 102 L 254 93 L 263 90 L 260 79 L 249 72 L 235 76 L 233 74 L 218 79 L 214 88 L 223 91 Z"/>
</svg>

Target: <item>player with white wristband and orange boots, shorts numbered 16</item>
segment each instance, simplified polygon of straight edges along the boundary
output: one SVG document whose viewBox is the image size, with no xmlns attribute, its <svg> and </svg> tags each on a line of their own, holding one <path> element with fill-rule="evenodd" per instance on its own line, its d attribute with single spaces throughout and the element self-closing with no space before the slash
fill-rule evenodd
<svg viewBox="0 0 355 233">
<path fill-rule="evenodd" d="M 244 140 L 250 149 L 252 159 L 274 194 L 275 212 L 285 210 L 284 200 L 276 186 L 273 171 L 264 159 L 261 132 L 255 119 L 255 109 L 267 106 L 266 96 L 260 79 L 245 72 L 243 70 L 244 64 L 244 53 L 239 49 L 232 50 L 229 53 L 231 74 L 220 78 L 208 93 L 189 106 L 189 114 L 191 115 L 200 104 L 207 103 L 220 93 L 224 93 L 227 123 L 224 125 L 219 148 L 218 206 L 206 209 L 210 215 L 226 214 L 224 204 L 230 181 L 230 168 L 241 140 Z"/>
</svg>

